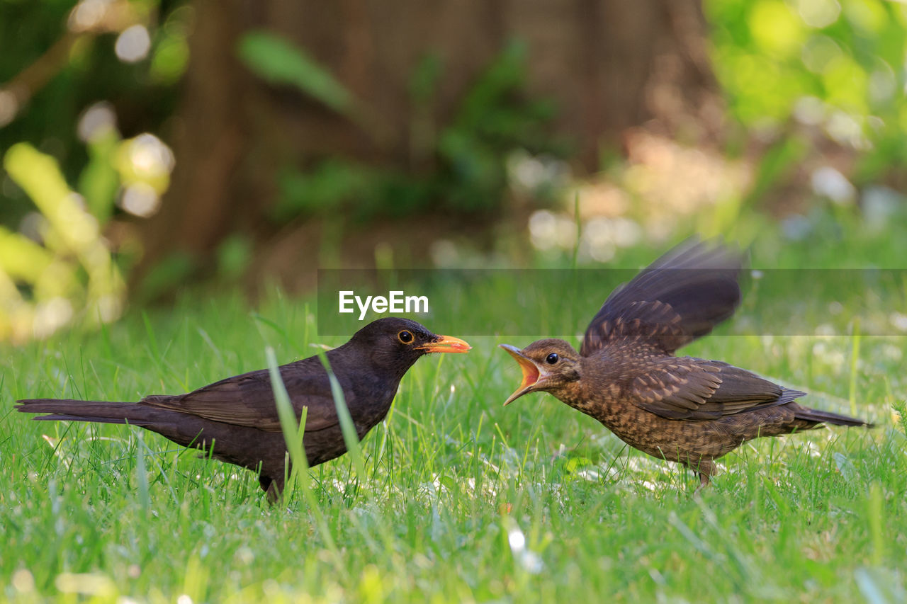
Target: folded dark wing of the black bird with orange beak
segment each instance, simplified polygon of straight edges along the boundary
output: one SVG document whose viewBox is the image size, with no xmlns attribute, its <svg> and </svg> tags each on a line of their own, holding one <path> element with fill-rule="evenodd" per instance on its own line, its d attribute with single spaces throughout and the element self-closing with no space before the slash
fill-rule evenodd
<svg viewBox="0 0 907 604">
<path fill-rule="evenodd" d="M 307 359 L 308 360 L 308 359 Z M 317 359 L 316 359 L 317 361 Z M 299 361 L 280 367 L 297 417 L 307 406 L 306 432 L 339 423 L 327 374 Z M 310 364 L 311 365 L 311 364 Z M 352 401 L 346 401 L 351 404 Z M 267 370 L 236 375 L 179 396 L 146 396 L 141 404 L 193 414 L 215 422 L 280 432 L 280 418 Z"/>
</svg>

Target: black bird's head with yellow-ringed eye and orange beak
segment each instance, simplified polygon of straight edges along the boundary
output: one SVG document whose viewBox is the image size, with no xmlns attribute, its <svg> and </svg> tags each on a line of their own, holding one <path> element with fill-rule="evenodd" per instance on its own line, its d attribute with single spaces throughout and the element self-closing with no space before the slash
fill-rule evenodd
<svg viewBox="0 0 907 604">
<path fill-rule="evenodd" d="M 464 353 L 472 348 L 458 337 L 438 336 L 415 321 L 399 317 L 372 321 L 357 331 L 349 344 L 365 348 L 375 365 L 403 373 L 423 355 Z"/>
</svg>

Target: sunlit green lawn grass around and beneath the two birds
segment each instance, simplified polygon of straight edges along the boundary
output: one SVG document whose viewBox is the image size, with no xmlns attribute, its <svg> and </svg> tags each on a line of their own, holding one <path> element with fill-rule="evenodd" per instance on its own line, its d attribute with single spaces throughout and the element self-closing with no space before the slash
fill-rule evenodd
<svg viewBox="0 0 907 604">
<path fill-rule="evenodd" d="M 907 598 L 907 449 L 892 416 L 907 398 L 903 337 L 863 336 L 858 358 L 847 336 L 714 336 L 685 349 L 808 390 L 825 409 L 850 412 L 854 392 L 856 413 L 878 424 L 748 443 L 701 497 L 690 472 L 549 395 L 502 408 L 520 372 L 494 345 L 526 337 L 470 338 L 469 355 L 420 360 L 362 443 L 364 472 L 348 455 L 322 464 L 312 498 L 297 490 L 276 507 L 252 472 L 156 434 L 12 409 L 23 397 L 182 392 L 267 366 L 268 346 L 285 363 L 345 339 L 315 332 L 309 307 L 278 293 L 256 311 L 187 296 L 98 333 L 5 348 L 0 598 Z"/>
</svg>

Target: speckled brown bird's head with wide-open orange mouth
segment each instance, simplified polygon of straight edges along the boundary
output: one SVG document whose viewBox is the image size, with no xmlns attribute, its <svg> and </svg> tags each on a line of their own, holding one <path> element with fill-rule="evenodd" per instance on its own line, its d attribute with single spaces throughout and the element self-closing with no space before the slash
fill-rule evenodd
<svg viewBox="0 0 907 604">
<path fill-rule="evenodd" d="M 556 395 L 558 390 L 580 379 L 580 353 L 563 340 L 539 340 L 522 350 L 509 344 L 500 346 L 522 369 L 522 384 L 504 404 L 536 391 Z"/>
</svg>

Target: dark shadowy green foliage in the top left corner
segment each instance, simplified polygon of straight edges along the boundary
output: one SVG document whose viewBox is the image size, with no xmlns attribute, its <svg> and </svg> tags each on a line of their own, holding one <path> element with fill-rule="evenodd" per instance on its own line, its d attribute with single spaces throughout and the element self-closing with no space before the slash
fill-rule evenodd
<svg viewBox="0 0 907 604">
<path fill-rule="evenodd" d="M 80 9 L 83 22 L 90 17 L 81 25 Z M 126 137 L 160 134 L 179 100 L 175 84 L 188 64 L 192 17 L 181 1 L 0 2 L 0 91 L 15 83 L 26 97 L 11 121 L 0 122 L 0 151 L 29 142 L 53 155 L 74 182 L 100 151 L 78 136 L 80 118 L 94 103 L 110 103 Z M 115 45 L 134 24 L 146 28 L 151 47 L 129 63 Z M 34 207 L 10 180 L 2 183 L 2 195 L 0 224 L 15 229 Z"/>
</svg>

